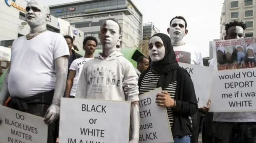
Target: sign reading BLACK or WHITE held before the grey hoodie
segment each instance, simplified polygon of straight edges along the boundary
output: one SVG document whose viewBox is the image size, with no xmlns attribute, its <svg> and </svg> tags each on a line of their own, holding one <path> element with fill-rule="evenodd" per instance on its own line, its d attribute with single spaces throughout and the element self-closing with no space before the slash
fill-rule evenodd
<svg viewBox="0 0 256 143">
<path fill-rule="evenodd" d="M 131 103 L 62 98 L 60 143 L 128 143 Z"/>
</svg>

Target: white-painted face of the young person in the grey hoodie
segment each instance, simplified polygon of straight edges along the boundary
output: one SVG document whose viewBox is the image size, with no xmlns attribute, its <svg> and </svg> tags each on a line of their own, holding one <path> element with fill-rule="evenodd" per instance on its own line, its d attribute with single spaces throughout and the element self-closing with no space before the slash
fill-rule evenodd
<svg viewBox="0 0 256 143">
<path fill-rule="evenodd" d="M 100 42 L 105 49 L 116 48 L 122 35 L 119 34 L 119 25 L 113 20 L 106 20 L 100 27 Z"/>
</svg>

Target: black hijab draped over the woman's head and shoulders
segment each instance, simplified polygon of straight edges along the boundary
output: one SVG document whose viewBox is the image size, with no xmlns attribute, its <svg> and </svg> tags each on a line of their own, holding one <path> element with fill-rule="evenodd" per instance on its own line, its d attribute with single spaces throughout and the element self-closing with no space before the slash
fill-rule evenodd
<svg viewBox="0 0 256 143">
<path fill-rule="evenodd" d="M 182 69 L 182 68 L 179 66 L 178 62 L 176 61 L 176 55 L 173 50 L 170 37 L 164 33 L 156 33 L 152 37 L 154 36 L 158 36 L 162 39 L 165 47 L 165 53 L 164 53 L 164 58 L 158 62 L 154 62 L 154 61 L 152 62 L 152 60 L 149 57 L 149 62 L 150 63 L 152 62 L 150 65 L 150 68 L 152 72 L 155 72 L 161 75 L 158 80 L 157 87 L 162 87 L 162 89 L 164 90 L 164 88 L 168 88 L 171 82 L 177 81 L 177 78 L 178 78 L 177 74 L 180 71 L 177 69 Z M 146 74 L 146 71 L 144 72 L 144 74 Z M 139 85 L 142 82 L 142 78 L 144 74 L 140 76 L 140 79 L 138 81 Z"/>
</svg>

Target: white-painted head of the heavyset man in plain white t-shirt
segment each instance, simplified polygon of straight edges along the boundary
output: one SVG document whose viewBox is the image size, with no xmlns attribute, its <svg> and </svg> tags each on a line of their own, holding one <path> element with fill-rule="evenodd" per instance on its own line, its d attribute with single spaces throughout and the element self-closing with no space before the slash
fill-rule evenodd
<svg viewBox="0 0 256 143">
<path fill-rule="evenodd" d="M 50 21 L 50 10 L 38 0 L 31 0 L 26 6 L 26 22 L 30 27 L 46 25 Z"/>
</svg>

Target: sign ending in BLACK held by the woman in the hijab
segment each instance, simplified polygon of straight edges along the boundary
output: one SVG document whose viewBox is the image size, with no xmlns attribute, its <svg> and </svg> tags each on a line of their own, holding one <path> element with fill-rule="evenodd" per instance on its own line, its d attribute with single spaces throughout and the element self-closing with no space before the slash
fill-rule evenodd
<svg viewBox="0 0 256 143">
<path fill-rule="evenodd" d="M 155 103 L 156 94 L 162 88 L 156 88 L 140 95 L 140 138 L 139 143 L 174 143 L 167 111 Z M 130 125 L 132 135 L 132 125 Z"/>
</svg>

